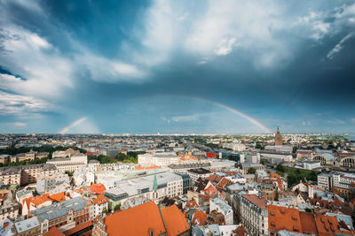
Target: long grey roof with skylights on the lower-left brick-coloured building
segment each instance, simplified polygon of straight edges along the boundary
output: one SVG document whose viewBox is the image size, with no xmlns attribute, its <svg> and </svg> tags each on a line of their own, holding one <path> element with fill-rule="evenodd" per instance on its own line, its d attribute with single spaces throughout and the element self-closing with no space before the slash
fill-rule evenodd
<svg viewBox="0 0 355 236">
<path fill-rule="evenodd" d="M 70 209 L 73 209 L 73 211 L 84 209 L 87 202 L 82 197 L 75 197 L 64 202 L 53 203 L 51 206 L 42 209 L 36 209 L 32 213 L 39 217 L 41 221 L 51 220 L 67 215 Z"/>
</svg>

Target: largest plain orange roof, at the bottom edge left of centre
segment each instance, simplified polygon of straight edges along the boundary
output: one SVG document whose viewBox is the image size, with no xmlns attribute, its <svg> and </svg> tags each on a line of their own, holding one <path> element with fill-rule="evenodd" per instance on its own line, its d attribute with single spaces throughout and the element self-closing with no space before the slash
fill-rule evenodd
<svg viewBox="0 0 355 236">
<path fill-rule="evenodd" d="M 153 235 L 166 232 L 161 213 L 154 202 L 116 211 L 106 217 L 105 225 L 108 235 L 146 235 L 149 230 L 153 230 Z"/>
</svg>

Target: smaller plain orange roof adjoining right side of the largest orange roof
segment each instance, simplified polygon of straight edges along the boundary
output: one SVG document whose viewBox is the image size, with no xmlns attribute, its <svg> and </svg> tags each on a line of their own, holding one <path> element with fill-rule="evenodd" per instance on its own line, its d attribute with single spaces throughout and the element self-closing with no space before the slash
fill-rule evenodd
<svg viewBox="0 0 355 236">
<path fill-rule="evenodd" d="M 167 227 L 167 235 L 178 235 L 189 230 L 184 214 L 172 205 L 166 209 L 162 209 L 162 217 Z"/>
</svg>

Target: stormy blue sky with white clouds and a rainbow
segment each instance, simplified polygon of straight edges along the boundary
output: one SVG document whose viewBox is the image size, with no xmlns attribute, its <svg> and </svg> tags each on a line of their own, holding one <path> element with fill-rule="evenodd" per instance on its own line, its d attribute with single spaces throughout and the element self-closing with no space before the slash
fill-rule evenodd
<svg viewBox="0 0 355 236">
<path fill-rule="evenodd" d="M 355 133 L 353 1 L 0 0 L 0 133 Z"/>
</svg>

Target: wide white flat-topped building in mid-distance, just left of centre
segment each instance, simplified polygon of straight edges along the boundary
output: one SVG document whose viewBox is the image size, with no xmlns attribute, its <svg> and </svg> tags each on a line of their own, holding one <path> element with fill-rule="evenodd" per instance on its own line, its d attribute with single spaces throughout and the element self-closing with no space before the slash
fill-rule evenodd
<svg viewBox="0 0 355 236">
<path fill-rule="evenodd" d="M 177 164 L 178 156 L 175 152 L 156 152 L 138 155 L 140 165 L 160 165 Z"/>
</svg>

